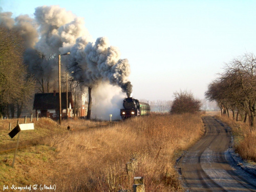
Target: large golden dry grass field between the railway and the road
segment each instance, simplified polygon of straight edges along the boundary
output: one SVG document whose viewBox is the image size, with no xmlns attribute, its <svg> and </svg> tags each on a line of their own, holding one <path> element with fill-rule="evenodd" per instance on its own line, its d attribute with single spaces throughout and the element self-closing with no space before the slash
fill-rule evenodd
<svg viewBox="0 0 256 192">
<path fill-rule="evenodd" d="M 48 121 L 35 123 L 34 132 L 49 129 L 50 134 L 40 137 L 38 145 L 19 149 L 14 168 L 14 152 L 0 154 L 0 190 L 12 184 L 55 184 L 56 191 L 131 190 L 125 165 L 135 158 L 132 176 L 144 177 L 146 191 L 179 191 L 176 159 L 203 135 L 200 114 L 150 115 L 113 124 L 79 120 L 61 127 Z M 67 131 L 68 124 L 74 131 Z M 8 139 L 5 132 L 0 130 L 1 140 Z"/>
</svg>

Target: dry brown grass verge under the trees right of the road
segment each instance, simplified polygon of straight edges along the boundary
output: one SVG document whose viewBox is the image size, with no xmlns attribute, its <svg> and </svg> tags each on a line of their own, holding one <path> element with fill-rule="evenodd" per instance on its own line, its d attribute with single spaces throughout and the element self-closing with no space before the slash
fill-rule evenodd
<svg viewBox="0 0 256 192">
<path fill-rule="evenodd" d="M 256 162 L 256 127 L 227 116 L 219 118 L 232 129 L 235 152 L 245 160 Z"/>
</svg>

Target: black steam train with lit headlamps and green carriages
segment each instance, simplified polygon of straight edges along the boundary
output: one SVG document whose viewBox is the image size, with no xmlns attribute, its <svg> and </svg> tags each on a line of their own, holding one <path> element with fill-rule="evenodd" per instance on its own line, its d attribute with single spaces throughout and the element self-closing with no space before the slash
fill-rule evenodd
<svg viewBox="0 0 256 192">
<path fill-rule="evenodd" d="M 123 100 L 123 107 L 124 109 L 120 110 L 122 119 L 150 114 L 150 105 L 148 103 L 139 102 L 139 100 L 132 97 L 127 97 Z"/>
</svg>

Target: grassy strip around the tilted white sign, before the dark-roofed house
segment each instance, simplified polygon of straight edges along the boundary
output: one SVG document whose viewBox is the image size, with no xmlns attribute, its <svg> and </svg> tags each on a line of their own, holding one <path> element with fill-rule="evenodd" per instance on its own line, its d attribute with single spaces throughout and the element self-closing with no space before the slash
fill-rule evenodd
<svg viewBox="0 0 256 192">
<path fill-rule="evenodd" d="M 73 131 L 85 130 L 92 127 L 106 126 L 108 122 L 97 122 L 97 121 L 88 121 L 88 120 L 63 120 L 62 125 L 59 126 L 56 121 L 53 121 L 50 118 L 39 118 L 36 121 L 36 118 L 32 119 L 34 123 L 34 130 L 27 130 L 20 134 L 19 145 L 33 145 L 40 143 L 42 138 L 48 137 L 54 134 L 68 133 L 68 125 L 73 129 Z M 0 120 L 0 151 L 8 150 L 9 148 L 15 148 L 17 142 L 17 136 L 10 138 L 8 135 L 9 123 L 11 123 L 11 129 L 17 125 L 17 119 L 4 119 Z M 19 119 L 19 123 L 24 123 L 24 119 Z M 30 118 L 27 119 L 27 123 L 30 122 Z"/>
</svg>

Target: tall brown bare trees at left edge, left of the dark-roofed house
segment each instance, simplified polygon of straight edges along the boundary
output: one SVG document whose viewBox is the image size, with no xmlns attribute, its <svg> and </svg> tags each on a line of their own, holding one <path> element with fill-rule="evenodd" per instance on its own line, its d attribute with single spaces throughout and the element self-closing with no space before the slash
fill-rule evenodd
<svg viewBox="0 0 256 192">
<path fill-rule="evenodd" d="M 14 29 L 0 24 L 0 118 L 20 116 L 34 93 L 35 81 L 24 65 L 24 39 Z"/>
</svg>

